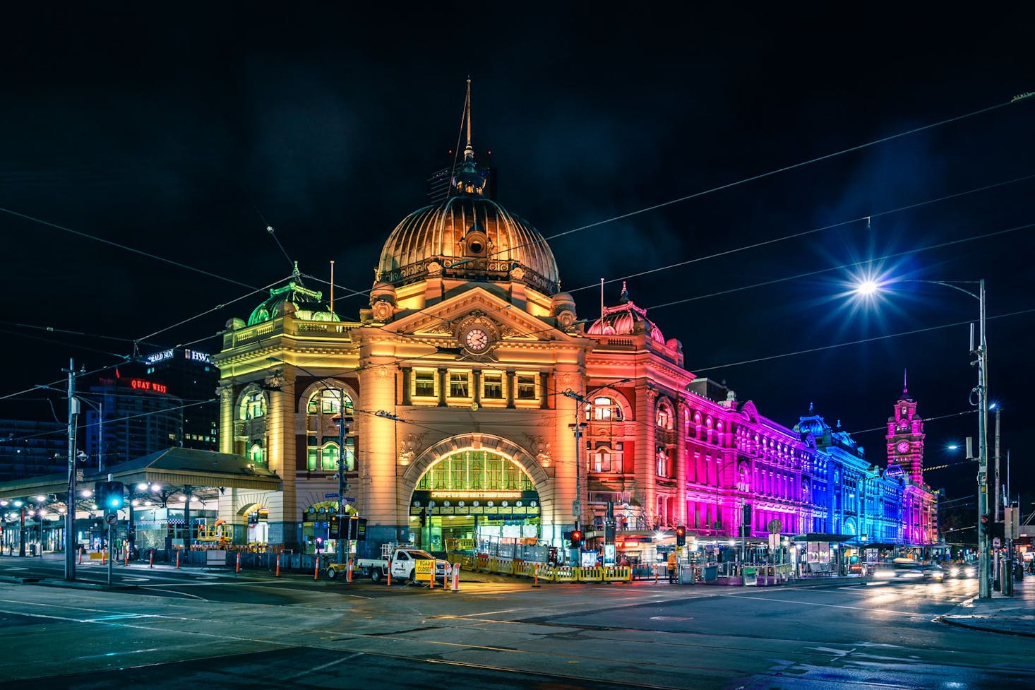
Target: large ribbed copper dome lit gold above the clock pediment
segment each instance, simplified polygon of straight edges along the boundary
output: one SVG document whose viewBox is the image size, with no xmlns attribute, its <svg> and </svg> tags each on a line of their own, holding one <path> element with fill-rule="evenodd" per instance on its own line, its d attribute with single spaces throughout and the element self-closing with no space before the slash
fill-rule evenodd
<svg viewBox="0 0 1035 690">
<path fill-rule="evenodd" d="M 378 280 L 398 287 L 441 270 L 468 280 L 522 280 L 555 294 L 560 277 L 546 240 L 479 192 L 456 194 L 407 215 L 381 251 Z"/>
</svg>

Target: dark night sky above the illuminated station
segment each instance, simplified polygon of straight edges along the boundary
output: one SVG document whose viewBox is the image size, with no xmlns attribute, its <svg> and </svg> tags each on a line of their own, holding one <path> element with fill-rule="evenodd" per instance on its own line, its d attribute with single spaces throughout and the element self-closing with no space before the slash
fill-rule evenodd
<svg viewBox="0 0 1035 690">
<path fill-rule="evenodd" d="M 973 409 L 976 371 L 968 326 L 939 326 L 976 319 L 978 303 L 900 283 L 864 308 L 836 267 L 985 279 L 1003 456 L 1013 489 L 1032 488 L 1035 232 L 1016 228 L 1035 223 L 1035 178 L 1016 180 L 1035 176 L 1035 97 L 1003 105 L 1035 90 L 1030 15 L 347 5 L 8 15 L 0 395 L 60 379 L 69 356 L 113 364 L 137 339 L 216 350 L 226 320 L 261 300 L 239 299 L 245 286 L 290 272 L 267 223 L 304 274 L 326 280 L 335 260 L 338 310 L 355 317 L 365 297 L 342 294 L 371 287 L 389 232 L 425 203 L 470 75 L 476 152 L 492 150 L 504 206 L 567 233 L 551 247 L 581 317 L 597 313 L 600 278 L 609 304 L 627 278 L 688 369 L 788 426 L 815 402 L 873 461 L 883 438 L 866 430 L 904 369 L 924 416 L 953 415 L 928 423 L 926 464 L 962 460 L 944 448 L 976 435 L 976 414 L 956 415 Z M 40 397 L 4 414 L 49 416 Z M 963 496 L 975 471 L 927 481 Z"/>
</svg>

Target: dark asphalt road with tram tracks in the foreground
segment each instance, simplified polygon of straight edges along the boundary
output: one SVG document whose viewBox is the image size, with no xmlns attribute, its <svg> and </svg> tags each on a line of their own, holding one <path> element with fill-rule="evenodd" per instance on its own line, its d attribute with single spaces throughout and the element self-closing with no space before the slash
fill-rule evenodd
<svg viewBox="0 0 1035 690">
<path fill-rule="evenodd" d="M 450 593 L 132 576 L 149 579 L 116 592 L 0 583 L 3 687 L 1035 687 L 1030 639 L 936 621 L 973 580 L 533 588 L 495 577 Z"/>
</svg>

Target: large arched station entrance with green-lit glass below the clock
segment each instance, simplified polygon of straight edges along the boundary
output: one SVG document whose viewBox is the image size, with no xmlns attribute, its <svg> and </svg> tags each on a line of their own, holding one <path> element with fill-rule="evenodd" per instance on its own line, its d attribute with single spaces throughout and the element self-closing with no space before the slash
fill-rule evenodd
<svg viewBox="0 0 1035 690">
<path fill-rule="evenodd" d="M 466 435 L 437 443 L 407 472 L 414 481 L 405 513 L 410 541 L 450 552 L 539 543 L 550 520 L 536 475 L 544 483 L 538 463 L 503 438 Z"/>
</svg>

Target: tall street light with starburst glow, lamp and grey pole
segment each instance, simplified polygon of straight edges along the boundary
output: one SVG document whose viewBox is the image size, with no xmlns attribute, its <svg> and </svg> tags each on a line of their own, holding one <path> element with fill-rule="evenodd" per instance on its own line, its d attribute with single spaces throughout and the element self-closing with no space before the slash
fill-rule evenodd
<svg viewBox="0 0 1035 690">
<path fill-rule="evenodd" d="M 892 281 L 889 281 L 889 283 Z M 971 326 L 971 353 L 977 355 L 977 360 L 972 365 L 977 365 L 977 435 L 978 435 L 978 470 L 977 470 L 977 516 L 978 516 L 978 571 L 979 585 L 978 598 L 992 599 L 992 558 L 988 543 L 988 534 L 980 528 L 981 516 L 988 510 L 988 346 L 984 338 L 984 280 L 979 281 L 925 281 L 925 280 L 903 280 L 894 281 L 900 283 L 930 283 L 933 285 L 944 285 L 945 287 L 958 290 L 978 300 L 978 342 L 974 345 L 974 328 Z M 977 293 L 960 287 L 960 285 L 977 285 Z M 867 280 L 856 287 L 858 294 L 869 296 L 882 289 L 884 285 L 875 280 Z"/>
</svg>

